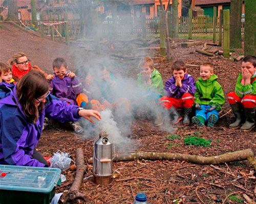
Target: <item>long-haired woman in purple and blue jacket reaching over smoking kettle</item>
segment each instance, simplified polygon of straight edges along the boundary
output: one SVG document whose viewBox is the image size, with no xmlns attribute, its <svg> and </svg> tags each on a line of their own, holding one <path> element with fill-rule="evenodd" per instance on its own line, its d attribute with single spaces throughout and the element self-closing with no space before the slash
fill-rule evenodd
<svg viewBox="0 0 256 204">
<path fill-rule="evenodd" d="M 35 150 L 41 136 L 44 118 L 60 122 L 80 117 L 93 123 L 99 112 L 67 105 L 50 93 L 49 83 L 38 71 L 27 73 L 10 95 L 0 100 L 0 164 L 47 167 Z"/>
</svg>

